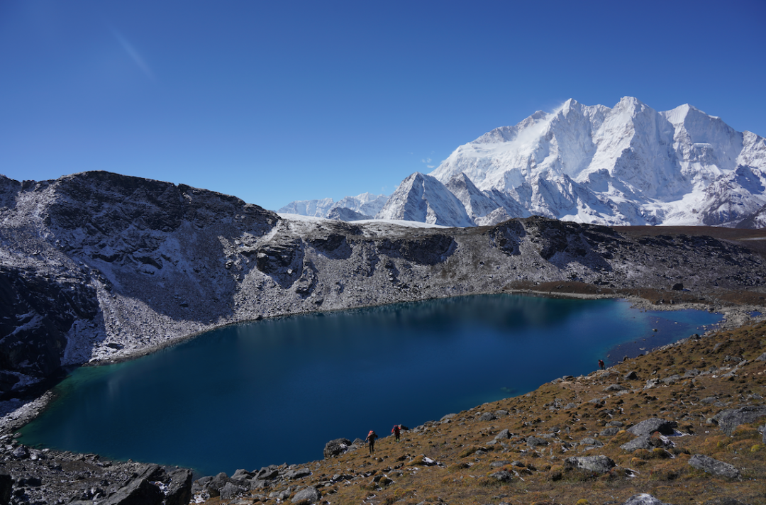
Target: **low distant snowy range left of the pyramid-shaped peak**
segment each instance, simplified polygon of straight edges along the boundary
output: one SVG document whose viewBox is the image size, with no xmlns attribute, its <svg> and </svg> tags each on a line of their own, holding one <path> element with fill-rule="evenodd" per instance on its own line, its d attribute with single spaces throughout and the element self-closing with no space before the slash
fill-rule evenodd
<svg viewBox="0 0 766 505">
<path fill-rule="evenodd" d="M 386 200 L 388 200 L 388 196 L 373 195 L 372 193 L 346 196 L 338 202 L 333 202 L 332 198 L 297 200 L 296 202 L 290 202 L 277 212 L 340 221 L 357 221 L 359 219 L 372 219 L 383 208 Z"/>
</svg>

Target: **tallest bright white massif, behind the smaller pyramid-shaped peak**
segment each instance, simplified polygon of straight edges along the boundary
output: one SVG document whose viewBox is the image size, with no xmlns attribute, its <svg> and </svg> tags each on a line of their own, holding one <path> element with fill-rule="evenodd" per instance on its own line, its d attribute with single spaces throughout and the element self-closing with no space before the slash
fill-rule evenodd
<svg viewBox="0 0 766 505">
<path fill-rule="evenodd" d="M 735 225 L 766 204 L 757 185 L 732 187 L 740 186 L 738 166 L 766 182 L 761 137 L 689 104 L 657 112 L 623 97 L 611 109 L 570 99 L 552 113 L 538 111 L 459 146 L 430 175 L 453 189 L 462 173 L 480 192 L 509 198 L 498 202 L 506 212 L 519 205 L 530 214 L 610 225 L 702 224 L 705 205 L 720 208 L 722 192 L 733 189 L 747 203 L 713 214 L 722 216 L 715 224 Z M 464 187 L 456 195 L 476 221 Z"/>
</svg>

